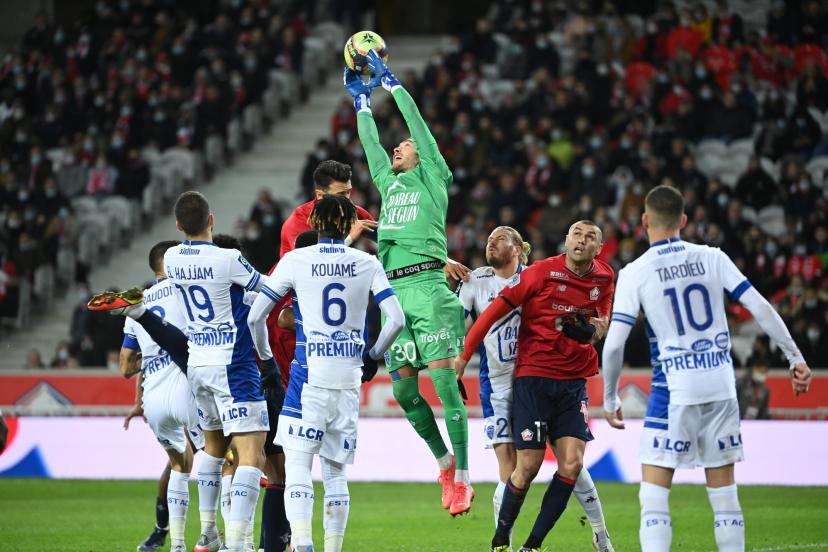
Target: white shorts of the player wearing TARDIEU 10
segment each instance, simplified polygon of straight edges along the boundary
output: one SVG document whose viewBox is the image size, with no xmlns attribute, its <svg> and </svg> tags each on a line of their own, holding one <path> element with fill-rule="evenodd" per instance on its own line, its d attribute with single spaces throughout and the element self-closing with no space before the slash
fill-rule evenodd
<svg viewBox="0 0 828 552">
<path fill-rule="evenodd" d="M 666 424 L 645 421 L 640 455 L 642 464 L 664 468 L 718 468 L 741 462 L 744 452 L 736 399 L 668 405 Z"/>
</svg>

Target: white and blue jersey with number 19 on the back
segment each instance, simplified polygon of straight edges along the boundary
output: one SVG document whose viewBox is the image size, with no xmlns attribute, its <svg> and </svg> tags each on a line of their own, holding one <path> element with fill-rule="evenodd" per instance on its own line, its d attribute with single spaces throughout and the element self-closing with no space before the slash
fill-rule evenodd
<svg viewBox="0 0 828 552">
<path fill-rule="evenodd" d="M 230 366 L 256 360 L 247 327 L 245 290 L 261 275 L 237 249 L 185 240 L 164 255 L 164 267 L 184 303 L 190 366 Z"/>
</svg>

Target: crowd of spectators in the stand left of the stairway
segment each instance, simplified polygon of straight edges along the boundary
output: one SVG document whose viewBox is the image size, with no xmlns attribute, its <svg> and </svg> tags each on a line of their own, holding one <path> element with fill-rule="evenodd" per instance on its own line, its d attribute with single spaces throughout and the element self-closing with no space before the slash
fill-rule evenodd
<svg viewBox="0 0 828 552">
<path fill-rule="evenodd" d="M 38 14 L 0 64 L 0 320 L 19 326 L 21 310 L 75 283 L 85 303 L 90 261 L 304 100 L 313 22 L 313 3 L 296 1 L 103 1 L 71 23 Z M 106 364 L 120 336 L 94 320 L 78 309 L 45 364 Z M 35 353 L 29 364 L 44 364 Z"/>
</svg>

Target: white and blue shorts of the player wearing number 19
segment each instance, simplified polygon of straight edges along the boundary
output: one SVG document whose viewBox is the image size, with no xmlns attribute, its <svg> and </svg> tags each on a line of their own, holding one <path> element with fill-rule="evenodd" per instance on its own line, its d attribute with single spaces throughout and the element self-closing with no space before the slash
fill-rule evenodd
<svg viewBox="0 0 828 552">
<path fill-rule="evenodd" d="M 267 431 L 267 404 L 261 394 L 259 369 L 252 365 L 191 366 L 187 379 L 205 431 Z"/>
</svg>

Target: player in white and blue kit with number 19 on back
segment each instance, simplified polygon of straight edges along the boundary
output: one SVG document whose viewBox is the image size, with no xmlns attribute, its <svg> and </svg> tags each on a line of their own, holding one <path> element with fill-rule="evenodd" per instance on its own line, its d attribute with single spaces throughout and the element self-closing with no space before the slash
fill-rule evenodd
<svg viewBox="0 0 828 552">
<path fill-rule="evenodd" d="M 221 469 L 232 436 L 238 453 L 231 487 L 228 550 L 243 546 L 245 528 L 256 507 L 269 428 L 253 341 L 247 327 L 245 291 L 258 291 L 261 275 L 235 249 L 212 242 L 213 214 L 198 192 L 184 192 L 175 203 L 176 227 L 184 242 L 164 255 L 167 275 L 178 289 L 187 318 L 187 377 L 205 433 L 199 463 L 201 536 L 196 552 L 221 546 L 216 509 Z"/>
</svg>

